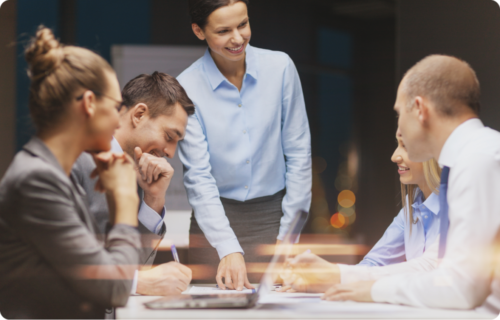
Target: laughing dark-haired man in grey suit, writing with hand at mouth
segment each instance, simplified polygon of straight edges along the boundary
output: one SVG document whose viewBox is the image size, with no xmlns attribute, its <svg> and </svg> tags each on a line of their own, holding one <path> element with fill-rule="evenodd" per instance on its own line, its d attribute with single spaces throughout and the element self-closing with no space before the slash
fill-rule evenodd
<svg viewBox="0 0 500 320">
<path fill-rule="evenodd" d="M 110 98 L 98 92 L 96 95 Z M 117 101 L 118 111 L 122 109 L 120 127 L 114 132 L 111 151 L 134 157 L 142 199 L 138 212 L 142 270 L 135 273 L 132 294 L 180 294 L 191 281 L 189 268 L 176 262 L 150 267 L 165 234 L 164 197 L 173 175 L 173 168 L 164 157 L 173 157 L 177 142 L 184 137 L 187 118 L 194 113 L 194 105 L 175 78 L 159 72 L 130 80 L 122 90 L 122 98 L 123 103 Z M 71 175 L 87 193 L 89 211 L 97 229 L 104 234 L 109 210 L 105 195 L 94 189 L 96 179 L 90 177 L 94 168 L 90 154 L 83 153 Z"/>
</svg>

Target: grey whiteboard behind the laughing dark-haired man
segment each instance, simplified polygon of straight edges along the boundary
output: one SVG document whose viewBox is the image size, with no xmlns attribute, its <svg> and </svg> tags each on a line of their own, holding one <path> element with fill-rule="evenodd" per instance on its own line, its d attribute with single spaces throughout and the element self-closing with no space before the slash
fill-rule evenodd
<svg viewBox="0 0 500 320">
<path fill-rule="evenodd" d="M 111 46 L 111 64 L 123 89 L 129 80 L 142 73 L 158 71 L 176 77 L 202 57 L 205 50 L 206 46 L 194 45 L 114 44 Z M 166 210 L 190 211 L 182 182 L 182 163 L 177 152 L 172 159 L 167 160 L 174 174 L 165 195 Z"/>
</svg>

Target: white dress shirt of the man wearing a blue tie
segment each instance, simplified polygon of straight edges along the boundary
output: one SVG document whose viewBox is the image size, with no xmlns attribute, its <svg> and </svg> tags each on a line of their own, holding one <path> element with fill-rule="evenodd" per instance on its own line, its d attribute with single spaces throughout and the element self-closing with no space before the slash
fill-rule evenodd
<svg viewBox="0 0 500 320">
<path fill-rule="evenodd" d="M 377 280 L 371 288 L 375 302 L 472 309 L 489 294 L 491 245 L 500 226 L 500 133 L 479 119 L 467 120 L 448 137 L 438 163 L 450 168 L 444 257 L 428 272 Z"/>
</svg>

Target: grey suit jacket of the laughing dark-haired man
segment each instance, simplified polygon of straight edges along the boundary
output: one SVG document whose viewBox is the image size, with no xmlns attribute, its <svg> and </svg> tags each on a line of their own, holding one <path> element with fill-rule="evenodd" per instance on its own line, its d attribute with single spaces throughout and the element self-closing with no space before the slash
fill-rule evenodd
<svg viewBox="0 0 500 320">
<path fill-rule="evenodd" d="M 103 193 L 94 191 L 95 182 L 97 178 L 90 179 L 90 174 L 95 169 L 95 163 L 92 156 L 88 153 L 82 153 L 73 165 L 71 170 L 71 176 L 77 181 L 80 186 L 85 190 L 88 197 L 88 204 L 90 209 L 90 214 L 95 219 L 97 223 L 97 230 L 101 234 L 106 233 L 107 226 L 109 224 L 109 209 L 107 206 L 106 196 Z M 137 186 L 139 192 L 139 198 L 141 197 L 142 190 Z M 159 235 L 149 231 L 144 225 L 139 221 L 138 230 L 140 233 L 141 249 L 139 251 L 139 262 L 140 264 L 150 267 L 153 264 L 154 258 L 156 257 L 156 249 L 160 241 L 165 236 L 166 228 L 165 224 L 161 226 L 161 231 Z"/>
</svg>

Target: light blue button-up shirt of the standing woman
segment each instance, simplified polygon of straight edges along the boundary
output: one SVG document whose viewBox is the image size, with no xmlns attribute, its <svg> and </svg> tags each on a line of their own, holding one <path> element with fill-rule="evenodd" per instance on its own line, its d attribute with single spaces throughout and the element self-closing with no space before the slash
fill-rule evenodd
<svg viewBox="0 0 500 320">
<path fill-rule="evenodd" d="M 219 196 L 245 201 L 286 187 L 280 240 L 293 215 L 308 211 L 311 201 L 309 124 L 295 65 L 283 52 L 250 45 L 245 62 L 240 91 L 208 49 L 177 77 L 196 106 L 179 142 L 184 186 L 219 258 L 243 253 Z"/>
</svg>

